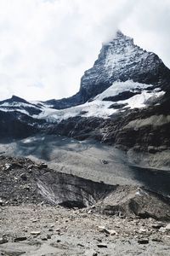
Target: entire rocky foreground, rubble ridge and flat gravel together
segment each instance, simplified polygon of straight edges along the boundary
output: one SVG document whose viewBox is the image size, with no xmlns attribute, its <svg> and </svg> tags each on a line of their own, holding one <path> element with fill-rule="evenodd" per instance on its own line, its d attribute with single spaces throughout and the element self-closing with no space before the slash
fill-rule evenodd
<svg viewBox="0 0 170 256">
<path fill-rule="evenodd" d="M 169 255 L 168 197 L 0 157 L 0 255 Z"/>
</svg>

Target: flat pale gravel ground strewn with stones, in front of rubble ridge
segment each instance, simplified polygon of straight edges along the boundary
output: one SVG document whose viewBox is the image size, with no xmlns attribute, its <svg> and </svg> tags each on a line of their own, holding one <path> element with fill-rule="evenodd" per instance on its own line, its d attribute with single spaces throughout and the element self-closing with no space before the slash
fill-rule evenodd
<svg viewBox="0 0 170 256">
<path fill-rule="evenodd" d="M 166 256 L 170 230 L 165 225 L 152 218 L 108 217 L 88 209 L 0 207 L 0 255 Z"/>
</svg>

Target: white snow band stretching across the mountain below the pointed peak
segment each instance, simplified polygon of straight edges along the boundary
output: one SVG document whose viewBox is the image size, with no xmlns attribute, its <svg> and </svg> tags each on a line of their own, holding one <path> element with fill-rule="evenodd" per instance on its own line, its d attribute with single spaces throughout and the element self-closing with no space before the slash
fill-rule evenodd
<svg viewBox="0 0 170 256">
<path fill-rule="evenodd" d="M 60 122 L 62 119 L 69 119 L 71 117 L 76 117 L 78 115 L 81 115 L 83 117 L 98 117 L 98 118 L 106 119 L 109 116 L 111 116 L 111 114 L 113 113 L 116 113 L 119 111 L 125 111 L 126 108 L 131 108 L 131 109 L 144 108 L 148 105 L 148 100 L 150 98 L 156 99 L 157 97 L 162 96 L 165 93 L 164 91 L 159 91 L 159 89 L 158 90 L 155 89 L 152 91 L 146 90 L 146 88 L 150 86 L 152 85 L 134 83 L 132 80 L 128 80 L 126 82 L 114 82 L 111 85 L 111 87 L 109 87 L 107 90 L 105 90 L 98 96 L 95 96 L 93 102 L 86 102 L 85 104 L 72 107 L 72 108 L 62 109 L 62 110 L 56 110 L 54 108 L 50 108 L 52 106 L 46 106 L 41 102 L 29 102 L 30 104 L 32 103 L 37 104 L 38 107 L 28 105 L 24 102 L 14 102 L 14 104 L 13 102 L 12 103 L 6 102 L 0 105 L 0 110 L 5 112 L 17 110 L 20 113 L 26 113 L 29 115 L 29 113 L 24 109 L 24 107 L 35 107 L 35 108 L 41 109 L 42 112 L 39 114 L 34 114 L 32 115 L 32 117 L 36 119 L 46 119 L 48 122 L 51 122 L 51 123 Z M 105 97 L 117 96 L 123 91 L 139 92 L 140 90 L 141 90 L 140 94 L 132 96 L 131 98 L 124 101 L 119 101 L 119 102 L 102 101 Z M 126 106 L 120 109 L 110 108 L 111 105 L 114 103 L 126 104 Z M 18 107 L 18 109 L 16 107 Z"/>
</svg>

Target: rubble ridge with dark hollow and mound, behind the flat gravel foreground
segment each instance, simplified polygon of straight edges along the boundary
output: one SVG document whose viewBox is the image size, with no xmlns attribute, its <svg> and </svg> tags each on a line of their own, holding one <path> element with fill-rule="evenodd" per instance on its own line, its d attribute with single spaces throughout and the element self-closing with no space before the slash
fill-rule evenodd
<svg viewBox="0 0 170 256">
<path fill-rule="evenodd" d="M 1 205 L 45 203 L 123 217 L 170 220 L 170 199 L 132 185 L 109 185 L 56 172 L 45 163 L 0 157 Z"/>
</svg>

